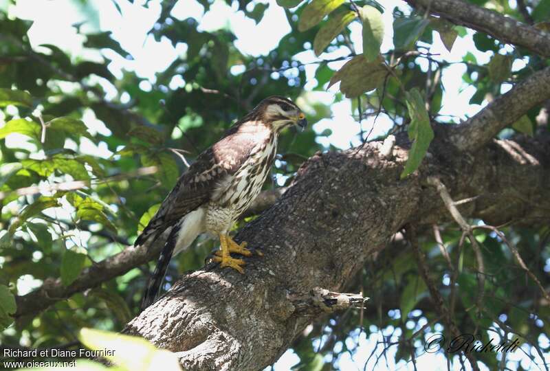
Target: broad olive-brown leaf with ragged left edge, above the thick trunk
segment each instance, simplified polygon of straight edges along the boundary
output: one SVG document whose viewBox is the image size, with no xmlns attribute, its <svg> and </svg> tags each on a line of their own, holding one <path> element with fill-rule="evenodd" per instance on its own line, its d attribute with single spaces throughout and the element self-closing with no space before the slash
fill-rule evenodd
<svg viewBox="0 0 550 371">
<path fill-rule="evenodd" d="M 329 82 L 330 88 L 336 82 L 340 82 L 340 91 L 347 98 L 355 98 L 378 87 L 388 75 L 388 70 L 382 63 L 382 57 L 378 56 L 374 62 L 366 62 L 364 56 L 359 54 L 349 60 L 342 68 L 336 71 Z"/>
</svg>

